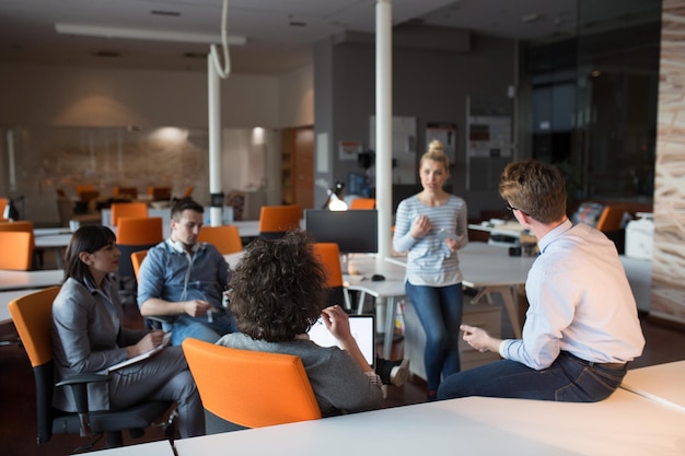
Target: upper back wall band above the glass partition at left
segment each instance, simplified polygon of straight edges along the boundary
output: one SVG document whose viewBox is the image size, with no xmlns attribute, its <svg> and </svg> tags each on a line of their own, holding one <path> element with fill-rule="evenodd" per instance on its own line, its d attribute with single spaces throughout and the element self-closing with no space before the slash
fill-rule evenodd
<svg viewBox="0 0 685 456">
<path fill-rule="evenodd" d="M 221 98 L 225 128 L 280 127 L 278 78 L 231 75 Z M 205 73 L 0 65 L 0 125 L 207 127 L 207 116 Z"/>
</svg>

